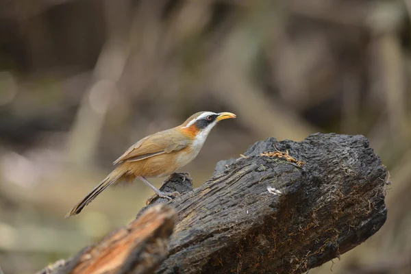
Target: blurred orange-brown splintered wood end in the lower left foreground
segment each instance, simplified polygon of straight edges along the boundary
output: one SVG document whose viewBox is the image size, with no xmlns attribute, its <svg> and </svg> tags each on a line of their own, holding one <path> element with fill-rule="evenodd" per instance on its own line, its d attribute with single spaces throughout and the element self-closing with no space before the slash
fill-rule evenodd
<svg viewBox="0 0 411 274">
<path fill-rule="evenodd" d="M 39 274 L 49 273 L 153 273 L 167 256 L 175 211 L 164 204 L 144 212 L 127 227 L 69 260 L 59 260 Z"/>
</svg>

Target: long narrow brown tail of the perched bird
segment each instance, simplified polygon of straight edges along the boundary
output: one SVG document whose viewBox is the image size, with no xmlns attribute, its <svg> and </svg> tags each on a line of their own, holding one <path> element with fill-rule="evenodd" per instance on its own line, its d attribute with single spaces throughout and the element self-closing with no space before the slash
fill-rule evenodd
<svg viewBox="0 0 411 274">
<path fill-rule="evenodd" d="M 112 173 L 110 173 L 107 177 L 105 177 L 105 179 L 103 179 L 103 181 L 101 181 L 100 184 L 98 184 L 97 186 L 95 186 L 95 188 L 93 188 L 90 192 L 88 192 L 86 197 L 81 199 L 75 206 L 73 206 L 71 211 L 69 213 L 67 213 L 64 218 L 69 218 L 71 216 L 74 216 L 75 214 L 79 214 L 85 206 L 87 206 L 92 200 L 95 199 L 95 197 L 97 197 L 97 195 L 99 195 L 101 193 L 101 191 L 103 191 L 103 190 L 105 190 L 105 188 L 108 188 L 109 186 L 111 186 L 122 175 L 123 175 L 123 173 L 121 173 L 118 170 L 114 169 L 114 171 L 112 171 Z"/>
</svg>

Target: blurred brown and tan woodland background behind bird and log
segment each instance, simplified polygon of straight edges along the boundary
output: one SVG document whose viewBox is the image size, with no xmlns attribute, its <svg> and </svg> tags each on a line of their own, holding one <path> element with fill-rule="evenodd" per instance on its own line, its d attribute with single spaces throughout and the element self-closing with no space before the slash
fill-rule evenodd
<svg viewBox="0 0 411 274">
<path fill-rule="evenodd" d="M 269 136 L 369 138 L 393 181 L 386 225 L 310 273 L 411 273 L 409 12 L 389 0 L 0 0 L 1 268 L 34 273 L 127 224 L 152 194 L 140 182 L 63 217 L 134 142 L 212 110 L 238 119 L 184 168 L 197 185 Z"/>
</svg>

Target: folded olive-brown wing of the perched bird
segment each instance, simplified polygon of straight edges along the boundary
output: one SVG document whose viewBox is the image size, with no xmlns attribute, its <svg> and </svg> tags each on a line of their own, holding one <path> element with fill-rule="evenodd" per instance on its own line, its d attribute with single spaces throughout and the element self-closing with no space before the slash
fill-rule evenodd
<svg viewBox="0 0 411 274">
<path fill-rule="evenodd" d="M 113 164 L 125 161 L 135 162 L 155 155 L 178 151 L 187 147 L 190 142 L 192 142 L 190 138 L 187 138 L 178 129 L 167 129 L 142 138 L 127 149 Z"/>
</svg>

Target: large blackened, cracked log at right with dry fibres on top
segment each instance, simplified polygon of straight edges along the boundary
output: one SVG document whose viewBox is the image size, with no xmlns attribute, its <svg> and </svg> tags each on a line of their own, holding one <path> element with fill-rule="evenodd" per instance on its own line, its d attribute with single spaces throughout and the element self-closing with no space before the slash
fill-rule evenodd
<svg viewBox="0 0 411 274">
<path fill-rule="evenodd" d="M 275 149 L 305 164 L 264 153 Z M 195 190 L 182 173 L 162 186 L 182 195 L 167 202 L 177 212 L 175 227 L 155 273 L 302 273 L 382 227 L 385 184 L 386 170 L 364 136 L 256 142 L 240 158 L 219 162 Z M 153 199 L 137 220 L 163 202 Z"/>
</svg>

